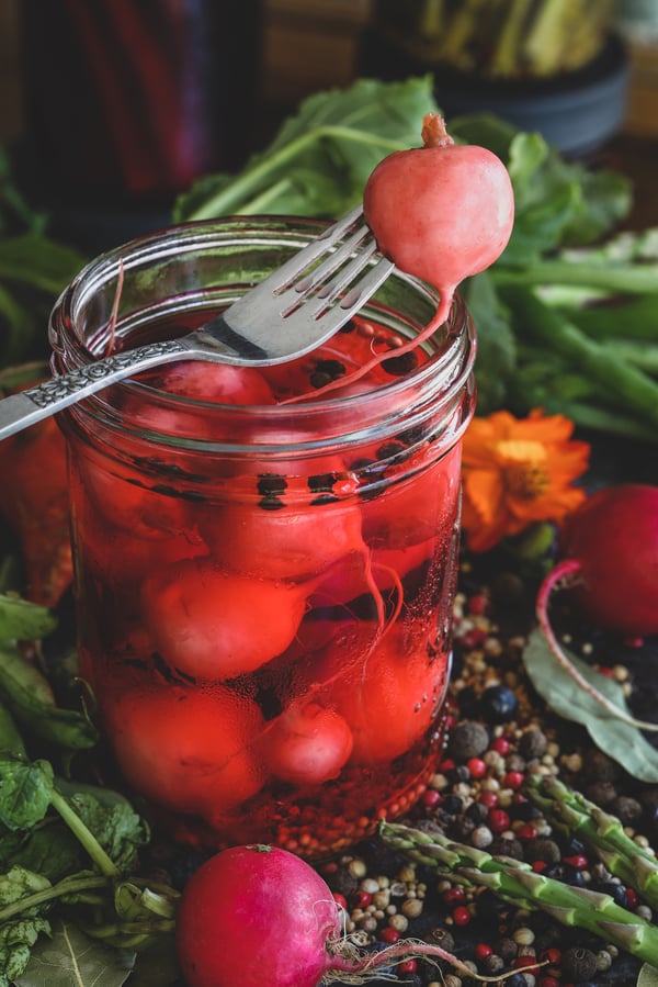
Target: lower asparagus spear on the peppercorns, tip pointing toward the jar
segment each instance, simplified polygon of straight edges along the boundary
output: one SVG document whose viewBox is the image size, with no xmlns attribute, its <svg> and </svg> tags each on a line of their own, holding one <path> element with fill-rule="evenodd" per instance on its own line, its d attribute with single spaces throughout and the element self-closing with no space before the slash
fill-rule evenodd
<svg viewBox="0 0 658 987">
<path fill-rule="evenodd" d="M 379 834 L 392 849 L 457 884 L 489 888 L 504 901 L 545 911 L 563 926 L 587 929 L 638 960 L 658 966 L 658 927 L 615 905 L 610 895 L 544 877 L 522 861 L 491 856 L 441 833 L 383 822 Z"/>
</svg>

